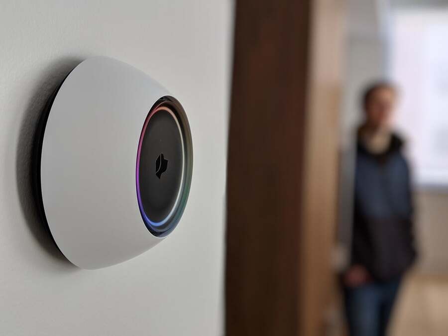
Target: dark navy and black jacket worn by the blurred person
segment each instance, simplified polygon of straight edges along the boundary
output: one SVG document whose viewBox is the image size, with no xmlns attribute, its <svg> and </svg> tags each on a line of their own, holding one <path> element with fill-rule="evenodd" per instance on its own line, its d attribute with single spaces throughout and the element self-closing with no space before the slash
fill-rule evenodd
<svg viewBox="0 0 448 336">
<path fill-rule="evenodd" d="M 413 206 L 403 141 L 373 154 L 358 139 L 351 263 L 376 280 L 402 275 L 414 262 Z"/>
</svg>

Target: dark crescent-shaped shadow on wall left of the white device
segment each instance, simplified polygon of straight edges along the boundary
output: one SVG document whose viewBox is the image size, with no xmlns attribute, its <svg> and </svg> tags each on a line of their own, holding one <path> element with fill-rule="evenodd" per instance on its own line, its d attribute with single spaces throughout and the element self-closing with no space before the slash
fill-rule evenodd
<svg viewBox="0 0 448 336">
<path fill-rule="evenodd" d="M 19 202 L 26 224 L 42 249 L 53 260 L 69 267 L 76 266 L 59 251 L 39 214 L 38 200 L 33 190 L 33 151 L 36 130 L 47 100 L 70 71 L 81 62 L 82 59 L 67 57 L 54 61 L 48 66 L 48 71 L 45 71 L 47 76 L 36 87 L 23 114 L 18 132 L 15 162 Z"/>
</svg>

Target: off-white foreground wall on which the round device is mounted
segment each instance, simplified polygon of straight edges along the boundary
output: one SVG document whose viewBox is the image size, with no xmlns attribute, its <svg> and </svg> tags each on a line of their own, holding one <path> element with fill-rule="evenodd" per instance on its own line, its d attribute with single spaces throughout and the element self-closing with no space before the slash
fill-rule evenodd
<svg viewBox="0 0 448 336">
<path fill-rule="evenodd" d="M 222 335 L 232 9 L 230 0 L 0 1 L 0 335 Z M 94 55 L 134 65 L 182 102 L 195 165 L 167 239 L 85 271 L 43 231 L 29 172 L 44 101 Z"/>
</svg>

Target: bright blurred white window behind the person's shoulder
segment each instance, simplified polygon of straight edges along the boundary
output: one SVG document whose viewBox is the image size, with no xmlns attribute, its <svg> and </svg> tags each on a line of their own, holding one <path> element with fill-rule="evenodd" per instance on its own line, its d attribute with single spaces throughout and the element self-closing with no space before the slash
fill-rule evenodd
<svg viewBox="0 0 448 336">
<path fill-rule="evenodd" d="M 401 89 L 396 126 L 415 181 L 448 187 L 448 10 L 393 16 L 390 72 Z"/>
</svg>

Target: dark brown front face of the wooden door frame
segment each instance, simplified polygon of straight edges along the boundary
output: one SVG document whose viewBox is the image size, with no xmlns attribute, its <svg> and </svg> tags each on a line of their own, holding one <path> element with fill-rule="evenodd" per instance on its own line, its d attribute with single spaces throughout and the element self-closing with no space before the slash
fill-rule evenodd
<svg viewBox="0 0 448 336">
<path fill-rule="evenodd" d="M 236 1 L 227 336 L 298 335 L 309 1 Z"/>
</svg>

